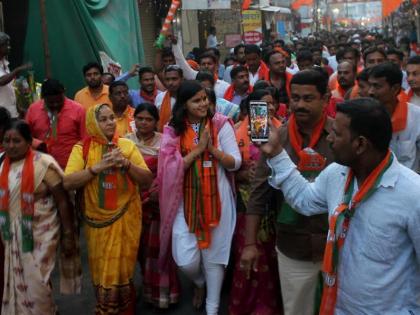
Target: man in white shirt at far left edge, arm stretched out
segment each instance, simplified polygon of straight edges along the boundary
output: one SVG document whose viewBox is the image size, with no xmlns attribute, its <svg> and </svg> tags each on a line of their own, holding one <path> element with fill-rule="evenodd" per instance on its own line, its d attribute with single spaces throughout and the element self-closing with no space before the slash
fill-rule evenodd
<svg viewBox="0 0 420 315">
<path fill-rule="evenodd" d="M 32 68 L 32 64 L 27 63 L 9 69 L 7 55 L 10 52 L 10 37 L 6 33 L 0 32 L 0 106 L 8 109 L 12 117 L 17 117 L 16 95 L 13 87 L 14 79 L 23 71 Z"/>
</svg>

